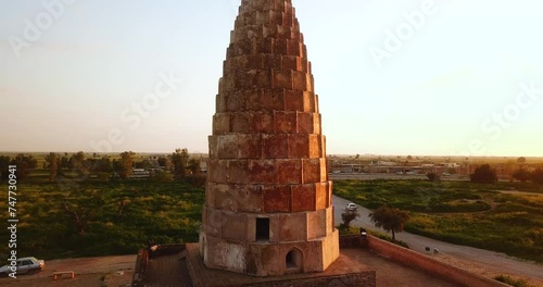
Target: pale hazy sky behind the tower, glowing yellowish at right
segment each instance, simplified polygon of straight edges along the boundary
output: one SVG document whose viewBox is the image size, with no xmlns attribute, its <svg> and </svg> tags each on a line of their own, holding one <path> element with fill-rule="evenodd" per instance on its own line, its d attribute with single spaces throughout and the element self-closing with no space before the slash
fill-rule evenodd
<svg viewBox="0 0 543 287">
<path fill-rule="evenodd" d="M 239 3 L 0 0 L 0 151 L 207 152 Z M 543 2 L 293 4 L 327 153 L 543 157 Z"/>
</svg>

